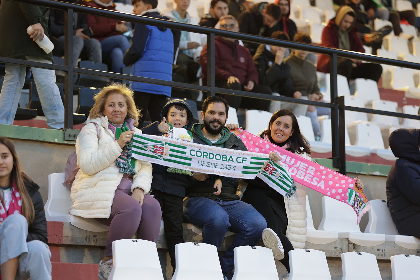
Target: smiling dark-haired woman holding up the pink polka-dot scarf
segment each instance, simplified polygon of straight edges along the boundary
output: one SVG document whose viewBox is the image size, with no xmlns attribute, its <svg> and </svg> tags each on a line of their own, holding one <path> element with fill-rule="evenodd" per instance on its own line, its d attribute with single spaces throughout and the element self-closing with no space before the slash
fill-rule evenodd
<svg viewBox="0 0 420 280">
<path fill-rule="evenodd" d="M 231 130 L 238 127 L 235 124 L 226 126 Z M 300 132 L 291 110 L 283 109 L 274 113 L 268 128 L 257 136 L 311 160 L 310 144 Z M 355 179 L 356 186 L 363 188 L 362 181 Z M 287 199 L 260 178 L 244 181 L 247 187 L 242 200 L 252 204 L 267 222 L 267 228 L 262 232 L 264 245 L 273 250 L 274 258 L 280 260 L 290 272 L 289 251 L 303 249 L 306 241 L 306 187 L 295 182 L 296 192 Z M 286 279 L 289 279 L 289 275 L 283 278 Z"/>
</svg>

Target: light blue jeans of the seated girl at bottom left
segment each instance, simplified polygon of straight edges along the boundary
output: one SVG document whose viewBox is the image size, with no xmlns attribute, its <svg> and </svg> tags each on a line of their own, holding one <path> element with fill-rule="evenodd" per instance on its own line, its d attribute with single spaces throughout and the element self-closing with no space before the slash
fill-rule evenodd
<svg viewBox="0 0 420 280">
<path fill-rule="evenodd" d="M 0 225 L 0 264 L 19 258 L 15 280 L 51 280 L 51 252 L 42 241 L 26 242 L 28 222 L 21 214 L 8 216 Z M 1 273 L 1 272 L 0 272 Z"/>
</svg>

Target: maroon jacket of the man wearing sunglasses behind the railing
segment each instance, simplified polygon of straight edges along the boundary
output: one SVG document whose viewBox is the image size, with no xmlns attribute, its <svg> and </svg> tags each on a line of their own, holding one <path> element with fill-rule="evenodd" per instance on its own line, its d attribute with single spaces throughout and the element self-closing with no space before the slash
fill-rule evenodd
<svg viewBox="0 0 420 280">
<path fill-rule="evenodd" d="M 215 38 L 214 44 L 216 81 L 227 81 L 230 76 L 235 76 L 241 85 L 246 85 L 248 81 L 258 84 L 258 71 L 246 47 L 239 45 L 237 40 L 229 42 L 220 37 Z M 206 84 L 207 45 L 201 51 L 200 65 L 204 75 L 203 84 Z"/>
</svg>

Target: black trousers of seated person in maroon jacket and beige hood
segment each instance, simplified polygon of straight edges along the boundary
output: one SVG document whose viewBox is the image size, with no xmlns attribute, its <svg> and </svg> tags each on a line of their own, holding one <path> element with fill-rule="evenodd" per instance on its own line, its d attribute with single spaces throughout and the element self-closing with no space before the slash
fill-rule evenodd
<svg viewBox="0 0 420 280">
<path fill-rule="evenodd" d="M 382 66 L 376 63 L 362 63 L 353 67 L 352 60 L 339 58 L 337 60 L 337 73 L 347 78 L 347 81 L 357 78 L 379 81 L 382 75 Z"/>
</svg>

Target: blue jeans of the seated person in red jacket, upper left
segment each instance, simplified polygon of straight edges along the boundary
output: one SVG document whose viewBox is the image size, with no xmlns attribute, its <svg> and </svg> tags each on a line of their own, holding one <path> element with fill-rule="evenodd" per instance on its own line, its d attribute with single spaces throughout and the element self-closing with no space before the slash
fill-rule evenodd
<svg viewBox="0 0 420 280">
<path fill-rule="evenodd" d="M 130 47 L 129 40 L 123 35 L 115 35 L 104 39 L 101 45 L 103 60 L 111 64 L 112 72 L 121 73 L 121 68 L 125 66 L 123 63 L 124 53 Z"/>
</svg>

